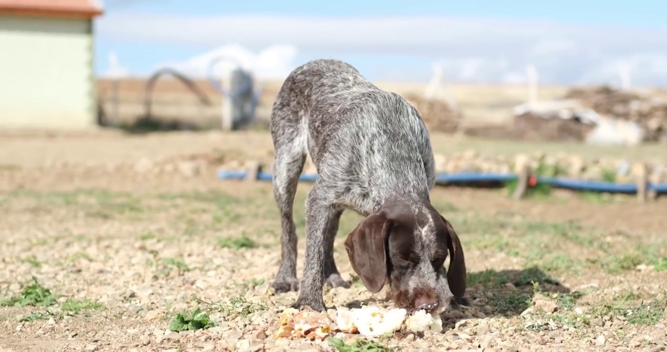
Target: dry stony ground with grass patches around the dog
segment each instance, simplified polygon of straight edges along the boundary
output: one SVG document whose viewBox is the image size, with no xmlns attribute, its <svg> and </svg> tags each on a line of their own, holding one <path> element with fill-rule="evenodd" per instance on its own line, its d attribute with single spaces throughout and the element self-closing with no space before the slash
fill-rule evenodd
<svg viewBox="0 0 667 352">
<path fill-rule="evenodd" d="M 446 153 L 494 143 L 450 141 L 434 145 Z M 267 157 L 271 142 L 265 133 L 1 135 L 0 350 L 335 351 L 331 339 L 273 337 L 297 293 L 269 286 L 280 235 L 270 182 L 221 181 L 213 164 L 151 171 L 161 159 L 213 151 Z M 299 278 L 308 189 L 299 185 L 295 202 Z M 440 332 L 336 333 L 339 351 L 667 348 L 665 199 L 558 191 L 512 201 L 504 189 L 452 187 L 432 199 L 462 240 L 472 307 L 444 313 Z M 360 219 L 342 217 L 336 262 L 353 285 L 325 288 L 331 311 L 391 306 L 364 288 L 342 249 Z M 205 328 L 169 331 L 195 309 Z"/>
</svg>

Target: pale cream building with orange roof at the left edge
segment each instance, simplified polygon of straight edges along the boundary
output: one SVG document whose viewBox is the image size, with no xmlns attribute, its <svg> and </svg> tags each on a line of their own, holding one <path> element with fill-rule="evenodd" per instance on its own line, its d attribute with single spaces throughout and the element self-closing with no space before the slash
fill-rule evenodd
<svg viewBox="0 0 667 352">
<path fill-rule="evenodd" d="M 0 128 L 97 124 L 95 0 L 0 0 Z"/>
</svg>

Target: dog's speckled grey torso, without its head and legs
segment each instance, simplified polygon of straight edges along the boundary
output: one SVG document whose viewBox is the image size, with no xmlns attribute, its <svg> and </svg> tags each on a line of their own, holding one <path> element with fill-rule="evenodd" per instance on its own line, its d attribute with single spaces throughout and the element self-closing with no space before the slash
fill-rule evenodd
<svg viewBox="0 0 667 352">
<path fill-rule="evenodd" d="M 343 61 L 297 67 L 276 97 L 271 133 L 274 143 L 290 139 L 307 149 L 327 188 L 361 213 L 397 192 L 428 198 L 434 185 L 433 153 L 417 111 Z"/>
</svg>

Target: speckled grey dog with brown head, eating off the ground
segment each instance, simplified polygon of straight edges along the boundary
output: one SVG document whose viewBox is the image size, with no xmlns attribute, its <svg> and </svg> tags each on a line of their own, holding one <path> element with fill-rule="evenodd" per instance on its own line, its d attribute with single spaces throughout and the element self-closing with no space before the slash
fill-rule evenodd
<svg viewBox="0 0 667 352">
<path fill-rule="evenodd" d="M 345 248 L 369 291 L 410 312 L 468 305 L 464 251 L 452 224 L 430 203 L 436 183 L 428 131 L 400 95 L 367 81 L 352 65 L 316 59 L 285 79 L 271 110 L 273 195 L 281 219 L 275 293 L 299 291 L 290 307 L 325 311 L 323 285 L 350 287 L 333 260 L 345 209 L 365 218 Z M 309 153 L 317 179 L 305 204 L 305 265 L 296 277 L 293 202 Z M 450 253 L 450 266 L 444 263 Z"/>
</svg>

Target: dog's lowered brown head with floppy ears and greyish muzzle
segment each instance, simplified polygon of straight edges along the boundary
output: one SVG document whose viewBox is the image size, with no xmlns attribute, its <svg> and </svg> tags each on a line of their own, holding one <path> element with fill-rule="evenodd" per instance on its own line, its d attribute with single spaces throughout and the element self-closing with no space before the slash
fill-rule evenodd
<svg viewBox="0 0 667 352">
<path fill-rule="evenodd" d="M 428 202 L 386 205 L 361 221 L 345 248 L 366 289 L 376 293 L 388 281 L 392 300 L 408 311 L 444 311 L 466 293 L 461 242 Z"/>
</svg>

